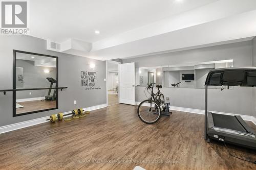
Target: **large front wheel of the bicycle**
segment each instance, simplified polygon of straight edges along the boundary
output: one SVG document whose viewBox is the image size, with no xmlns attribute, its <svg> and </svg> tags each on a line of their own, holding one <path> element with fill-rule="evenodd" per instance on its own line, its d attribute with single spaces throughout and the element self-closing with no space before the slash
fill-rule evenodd
<svg viewBox="0 0 256 170">
<path fill-rule="evenodd" d="M 154 124 L 161 117 L 160 106 L 152 100 L 141 102 L 137 110 L 138 116 L 146 124 Z"/>
</svg>

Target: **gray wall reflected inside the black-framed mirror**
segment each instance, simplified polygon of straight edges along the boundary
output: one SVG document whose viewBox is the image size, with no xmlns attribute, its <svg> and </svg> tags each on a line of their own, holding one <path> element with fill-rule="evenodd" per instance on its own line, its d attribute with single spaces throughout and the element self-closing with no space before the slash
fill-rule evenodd
<svg viewBox="0 0 256 170">
<path fill-rule="evenodd" d="M 56 80 L 57 72 L 54 67 L 35 66 L 34 61 L 18 59 L 16 60 L 16 66 L 24 68 L 24 88 L 47 88 L 50 87 L 50 82 L 46 79 L 47 77 L 52 77 Z M 50 72 L 45 73 L 46 69 Z M 53 84 L 53 87 L 54 86 L 55 83 Z M 53 91 L 54 90 L 52 90 L 52 93 Z M 29 92 L 31 92 L 31 95 Z M 47 92 L 48 90 L 17 91 L 16 99 L 44 97 Z"/>
</svg>

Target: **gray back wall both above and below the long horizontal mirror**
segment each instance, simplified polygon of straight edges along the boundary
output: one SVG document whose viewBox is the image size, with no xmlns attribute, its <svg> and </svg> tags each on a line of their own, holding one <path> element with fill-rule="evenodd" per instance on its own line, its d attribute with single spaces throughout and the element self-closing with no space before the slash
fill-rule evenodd
<svg viewBox="0 0 256 170">
<path fill-rule="evenodd" d="M 124 59 L 123 63 L 135 62 L 135 67 L 174 65 L 191 62 L 207 62 L 233 59 L 234 67 L 251 66 L 252 42 L 238 42 L 225 45 L 198 48 L 174 53 Z M 145 99 L 144 87 L 136 87 L 135 100 Z M 163 88 L 165 97 L 170 98 L 172 106 L 204 109 L 204 89 Z M 234 88 L 220 91 L 209 89 L 209 110 L 253 115 L 256 117 L 253 88 Z"/>
</svg>

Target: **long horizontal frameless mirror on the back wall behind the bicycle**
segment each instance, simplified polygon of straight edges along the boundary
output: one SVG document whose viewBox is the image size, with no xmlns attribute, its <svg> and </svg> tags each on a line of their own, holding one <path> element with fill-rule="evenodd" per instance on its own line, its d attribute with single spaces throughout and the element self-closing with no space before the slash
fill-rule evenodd
<svg viewBox="0 0 256 170">
<path fill-rule="evenodd" d="M 206 76 L 211 69 L 233 67 L 233 60 L 189 63 L 183 65 L 164 65 L 140 67 L 136 69 L 137 86 L 146 87 L 148 83 L 160 84 L 169 88 L 204 88 Z M 222 88 L 210 86 L 209 88 Z M 232 87 L 223 87 L 232 88 Z"/>
</svg>

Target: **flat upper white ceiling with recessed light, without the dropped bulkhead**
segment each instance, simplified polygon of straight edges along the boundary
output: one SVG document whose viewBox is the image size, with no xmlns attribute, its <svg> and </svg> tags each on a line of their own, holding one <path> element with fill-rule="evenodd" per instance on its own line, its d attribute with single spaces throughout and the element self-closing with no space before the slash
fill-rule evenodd
<svg viewBox="0 0 256 170">
<path fill-rule="evenodd" d="M 30 34 L 95 42 L 217 0 L 32 0 Z M 94 31 L 100 34 L 95 35 Z"/>
</svg>

